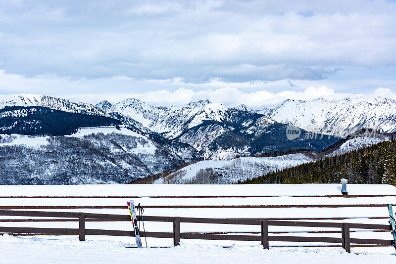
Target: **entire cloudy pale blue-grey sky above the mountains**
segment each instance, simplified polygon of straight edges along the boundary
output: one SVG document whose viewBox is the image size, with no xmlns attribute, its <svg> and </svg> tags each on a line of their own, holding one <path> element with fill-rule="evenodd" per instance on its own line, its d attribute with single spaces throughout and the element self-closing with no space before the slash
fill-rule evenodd
<svg viewBox="0 0 396 264">
<path fill-rule="evenodd" d="M 0 93 L 396 99 L 396 1 L 0 0 Z"/>
</svg>

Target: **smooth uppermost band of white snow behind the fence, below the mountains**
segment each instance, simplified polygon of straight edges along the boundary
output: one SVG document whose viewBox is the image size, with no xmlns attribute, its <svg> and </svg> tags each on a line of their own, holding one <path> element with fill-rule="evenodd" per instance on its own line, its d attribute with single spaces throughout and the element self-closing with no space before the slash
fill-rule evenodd
<svg viewBox="0 0 396 264">
<path fill-rule="evenodd" d="M 396 195 L 385 184 L 348 184 L 349 195 Z M 243 184 L 243 185 L 0 185 L 2 196 L 309 196 L 341 195 L 341 184 Z M 1 200 L 3 201 L 3 200 Z"/>
</svg>

